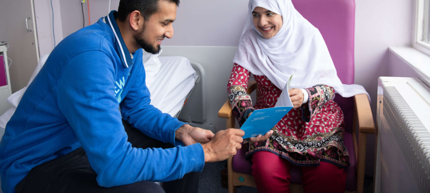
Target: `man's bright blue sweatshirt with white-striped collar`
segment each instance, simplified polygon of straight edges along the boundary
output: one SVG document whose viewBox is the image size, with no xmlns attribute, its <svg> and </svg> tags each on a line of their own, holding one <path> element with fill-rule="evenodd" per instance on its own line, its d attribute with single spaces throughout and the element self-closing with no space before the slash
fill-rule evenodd
<svg viewBox="0 0 430 193">
<path fill-rule="evenodd" d="M 121 117 L 174 145 L 184 123 L 149 105 L 142 50 L 129 53 L 115 15 L 61 41 L 22 96 L 0 142 L 3 192 L 14 193 L 32 168 L 80 147 L 102 187 L 172 181 L 203 169 L 198 143 L 163 150 L 127 142 Z"/>
</svg>

